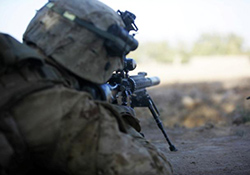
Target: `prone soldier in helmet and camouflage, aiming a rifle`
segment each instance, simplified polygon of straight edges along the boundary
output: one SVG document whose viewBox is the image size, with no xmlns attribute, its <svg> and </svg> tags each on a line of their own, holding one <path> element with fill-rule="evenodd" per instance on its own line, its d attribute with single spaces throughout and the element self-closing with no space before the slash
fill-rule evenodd
<svg viewBox="0 0 250 175">
<path fill-rule="evenodd" d="M 0 35 L 1 175 L 172 174 L 133 110 L 98 98 L 135 49 L 124 27 L 99 1 L 54 0 L 30 22 L 24 44 Z"/>
</svg>

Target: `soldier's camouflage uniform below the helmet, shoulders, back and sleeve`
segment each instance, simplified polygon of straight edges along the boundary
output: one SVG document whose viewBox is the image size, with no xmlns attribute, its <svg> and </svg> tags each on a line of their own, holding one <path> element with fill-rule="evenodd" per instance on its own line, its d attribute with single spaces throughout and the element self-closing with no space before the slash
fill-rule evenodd
<svg viewBox="0 0 250 175">
<path fill-rule="evenodd" d="M 0 46 L 1 174 L 172 174 L 117 106 L 79 91 L 72 73 L 11 37 L 0 35 Z"/>
</svg>

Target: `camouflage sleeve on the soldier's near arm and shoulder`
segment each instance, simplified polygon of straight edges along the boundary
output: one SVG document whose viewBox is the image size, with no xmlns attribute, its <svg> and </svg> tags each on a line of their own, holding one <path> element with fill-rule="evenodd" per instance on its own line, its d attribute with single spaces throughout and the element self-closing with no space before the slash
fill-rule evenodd
<svg viewBox="0 0 250 175">
<path fill-rule="evenodd" d="M 42 91 L 12 110 L 34 160 L 66 174 L 168 175 L 159 151 L 113 108 L 84 92 Z"/>
</svg>

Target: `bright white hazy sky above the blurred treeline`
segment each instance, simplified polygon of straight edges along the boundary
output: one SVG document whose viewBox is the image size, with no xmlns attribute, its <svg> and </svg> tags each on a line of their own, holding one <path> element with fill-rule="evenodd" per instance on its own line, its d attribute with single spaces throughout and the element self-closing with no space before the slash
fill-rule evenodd
<svg viewBox="0 0 250 175">
<path fill-rule="evenodd" d="M 17 39 L 47 0 L 0 0 L 0 31 Z M 133 12 L 139 41 L 192 42 L 204 32 L 236 33 L 250 47 L 250 0 L 102 0 Z"/>
</svg>

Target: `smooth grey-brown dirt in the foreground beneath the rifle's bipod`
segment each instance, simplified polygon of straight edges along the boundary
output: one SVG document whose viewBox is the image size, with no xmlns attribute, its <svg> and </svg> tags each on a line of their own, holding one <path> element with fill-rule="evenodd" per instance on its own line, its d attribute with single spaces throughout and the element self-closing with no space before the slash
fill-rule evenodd
<svg viewBox="0 0 250 175">
<path fill-rule="evenodd" d="M 167 129 L 177 152 L 169 151 L 156 127 L 144 133 L 166 155 L 176 175 L 250 174 L 249 125 Z"/>
</svg>

